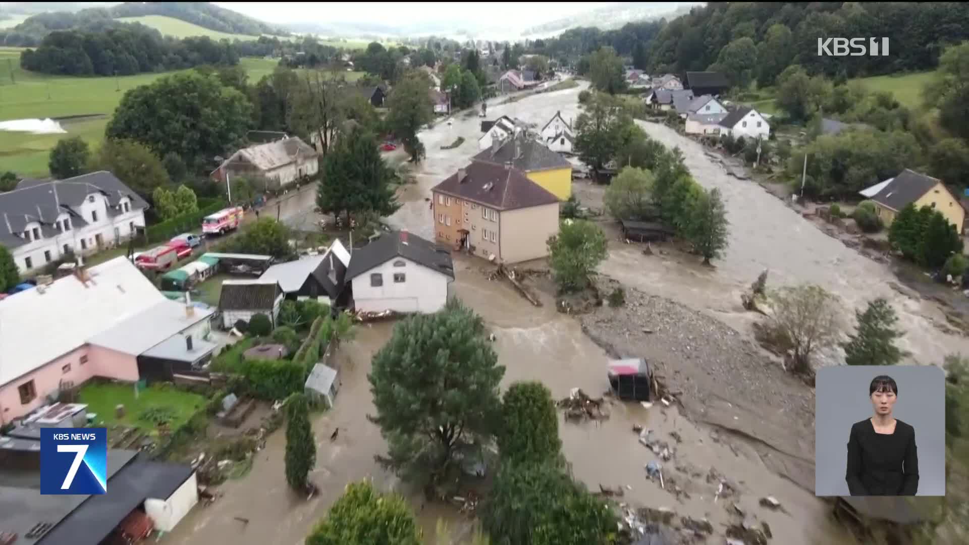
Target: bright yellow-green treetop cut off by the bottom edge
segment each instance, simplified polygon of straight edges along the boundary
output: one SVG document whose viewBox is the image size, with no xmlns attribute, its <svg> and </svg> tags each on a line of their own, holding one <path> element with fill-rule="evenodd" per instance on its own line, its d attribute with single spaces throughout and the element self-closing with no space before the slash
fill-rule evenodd
<svg viewBox="0 0 969 545">
<path fill-rule="evenodd" d="M 370 481 L 350 483 L 306 545 L 421 545 L 421 527 L 403 497 L 380 494 Z"/>
</svg>

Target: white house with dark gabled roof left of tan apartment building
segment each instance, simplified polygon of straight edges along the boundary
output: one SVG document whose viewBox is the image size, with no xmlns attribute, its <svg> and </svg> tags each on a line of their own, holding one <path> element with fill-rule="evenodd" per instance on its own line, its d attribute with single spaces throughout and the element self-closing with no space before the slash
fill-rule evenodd
<svg viewBox="0 0 969 545">
<path fill-rule="evenodd" d="M 448 301 L 451 252 L 406 231 L 354 250 L 346 279 L 359 311 L 436 312 Z"/>
</svg>

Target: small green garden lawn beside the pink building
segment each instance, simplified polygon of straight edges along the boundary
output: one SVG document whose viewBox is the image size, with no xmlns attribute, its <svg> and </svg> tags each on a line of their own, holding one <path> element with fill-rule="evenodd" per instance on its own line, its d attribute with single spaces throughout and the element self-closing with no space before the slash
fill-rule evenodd
<svg viewBox="0 0 969 545">
<path fill-rule="evenodd" d="M 198 394 L 157 386 L 141 390 L 136 400 L 135 386 L 131 384 L 87 384 L 80 389 L 78 398 L 87 403 L 88 412 L 97 414 L 94 425 L 99 428 L 121 424 L 150 433 L 157 433 L 157 426 L 141 418 L 143 411 L 155 407 L 171 410 L 169 429 L 173 432 L 208 402 Z M 120 419 L 114 416 L 114 407 L 119 404 L 125 407 L 125 416 Z"/>
</svg>

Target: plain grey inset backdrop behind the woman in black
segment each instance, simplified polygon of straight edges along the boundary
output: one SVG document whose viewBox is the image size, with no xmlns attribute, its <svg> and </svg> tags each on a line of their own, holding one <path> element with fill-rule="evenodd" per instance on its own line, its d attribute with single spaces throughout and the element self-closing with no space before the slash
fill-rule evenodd
<svg viewBox="0 0 969 545">
<path fill-rule="evenodd" d="M 871 418 L 871 379 L 887 374 L 898 385 L 892 416 L 915 428 L 919 449 L 917 496 L 946 494 L 946 373 L 935 366 L 839 366 L 818 371 L 814 409 L 814 493 L 851 496 L 845 482 L 848 435 Z"/>
</svg>

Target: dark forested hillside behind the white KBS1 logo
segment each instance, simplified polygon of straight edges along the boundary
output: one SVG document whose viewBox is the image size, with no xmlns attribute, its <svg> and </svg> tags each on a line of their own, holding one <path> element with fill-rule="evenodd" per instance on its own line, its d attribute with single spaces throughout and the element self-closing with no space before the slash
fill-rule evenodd
<svg viewBox="0 0 969 545">
<path fill-rule="evenodd" d="M 956 2 L 724 2 L 694 8 L 648 45 L 646 69 L 721 70 L 737 86 L 769 85 L 791 64 L 829 78 L 923 71 L 969 38 L 969 6 Z M 818 38 L 888 38 L 888 56 L 819 56 Z M 622 52 L 622 51 L 620 51 Z"/>
</svg>

